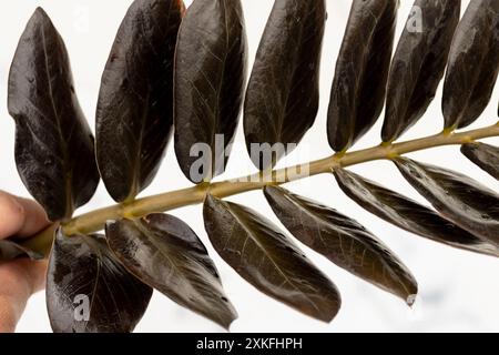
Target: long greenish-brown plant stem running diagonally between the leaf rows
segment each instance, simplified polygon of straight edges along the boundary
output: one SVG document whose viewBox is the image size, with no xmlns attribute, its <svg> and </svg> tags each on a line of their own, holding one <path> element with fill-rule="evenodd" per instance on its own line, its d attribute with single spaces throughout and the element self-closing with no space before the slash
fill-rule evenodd
<svg viewBox="0 0 499 355">
<path fill-rule="evenodd" d="M 440 134 L 401 142 L 381 144 L 370 149 L 335 154 L 326 159 L 306 164 L 285 168 L 265 173 L 244 176 L 236 180 L 202 184 L 189 189 L 166 192 L 163 194 L 139 199 L 126 204 L 116 204 L 109 207 L 77 216 L 63 225 L 67 235 L 91 234 L 104 229 L 105 222 L 122 217 L 141 217 L 150 213 L 166 212 L 179 207 L 202 203 L 207 193 L 217 197 L 227 197 L 248 191 L 255 191 L 268 184 L 284 184 L 296 180 L 329 173 L 338 166 L 352 166 L 360 163 L 391 160 L 396 156 L 418 152 L 437 146 L 461 145 L 486 138 L 499 136 L 499 124 L 466 131 L 460 133 L 442 132 Z M 301 169 L 308 166 L 307 173 Z M 272 178 L 271 178 L 272 176 Z M 47 255 L 53 240 L 54 226 L 49 227 L 34 236 L 24 245 Z"/>
</svg>

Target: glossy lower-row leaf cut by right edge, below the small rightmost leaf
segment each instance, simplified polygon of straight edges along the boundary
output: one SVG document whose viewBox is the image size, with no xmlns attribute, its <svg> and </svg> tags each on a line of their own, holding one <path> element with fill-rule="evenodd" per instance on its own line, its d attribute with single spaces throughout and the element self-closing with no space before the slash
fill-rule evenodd
<svg viewBox="0 0 499 355">
<path fill-rule="evenodd" d="M 470 233 L 499 245 L 499 195 L 460 173 L 397 159 L 404 178 L 437 211 Z"/>
</svg>

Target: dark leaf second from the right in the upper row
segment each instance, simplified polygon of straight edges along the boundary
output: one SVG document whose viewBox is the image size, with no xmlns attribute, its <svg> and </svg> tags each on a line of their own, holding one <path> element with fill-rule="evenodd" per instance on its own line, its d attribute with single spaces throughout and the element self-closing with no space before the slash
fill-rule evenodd
<svg viewBox="0 0 499 355">
<path fill-rule="evenodd" d="M 416 0 L 388 79 L 384 142 L 397 140 L 425 114 L 444 77 L 460 0 Z M 415 12 L 416 11 L 416 12 Z M 420 31 L 411 22 L 422 16 Z"/>
</svg>

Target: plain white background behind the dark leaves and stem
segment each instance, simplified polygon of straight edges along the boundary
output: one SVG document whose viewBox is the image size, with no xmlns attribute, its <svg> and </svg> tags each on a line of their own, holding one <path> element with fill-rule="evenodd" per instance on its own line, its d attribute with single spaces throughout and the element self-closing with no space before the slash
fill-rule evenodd
<svg viewBox="0 0 499 355">
<path fill-rule="evenodd" d="M 272 0 L 242 0 L 249 40 L 249 61 L 253 62 Z M 313 1 L 313 0 L 310 0 Z M 37 6 L 45 9 L 68 45 L 75 87 L 86 118 L 93 126 L 100 78 L 115 32 L 131 0 L 17 0 L 0 3 L 0 161 L 2 163 L 0 189 L 28 196 L 20 182 L 13 161 L 14 124 L 7 112 L 7 79 L 17 42 L 26 22 Z M 187 1 L 187 4 L 191 1 Z M 468 1 L 462 1 L 464 7 Z M 401 0 L 398 33 L 400 33 L 413 1 Z M 329 155 L 326 140 L 326 112 L 334 64 L 346 26 L 349 0 L 327 0 L 328 21 L 324 39 L 322 68 L 322 102 L 315 126 L 302 145 L 282 165 L 304 162 Z M 398 37 L 397 37 L 398 38 Z M 442 129 L 439 94 L 421 122 L 404 140 L 439 132 Z M 473 126 L 485 126 L 497 121 L 498 90 L 492 103 Z M 356 149 L 379 143 L 379 122 Z M 237 145 L 223 178 L 233 178 L 253 171 L 243 145 L 242 129 Z M 499 140 L 490 142 L 499 144 Z M 457 146 L 436 149 L 411 154 L 425 162 L 457 169 L 499 191 L 499 182 L 481 172 L 459 153 Z M 370 179 L 424 202 L 399 176 L 389 162 L 375 162 L 353 169 Z M 189 186 L 180 173 L 173 149 L 170 146 L 162 170 L 154 184 L 142 195 Z M 361 210 L 345 197 L 334 179 L 316 176 L 287 186 L 294 192 L 310 196 L 363 222 L 384 240 L 405 261 L 419 282 L 420 297 L 414 310 L 374 286 L 347 274 L 324 257 L 306 250 L 312 260 L 337 284 L 343 296 L 343 308 L 332 324 L 310 320 L 264 296 L 246 284 L 213 251 L 204 232 L 200 206 L 173 213 L 198 233 L 213 256 L 225 290 L 238 310 L 240 318 L 233 332 L 430 332 L 499 331 L 499 261 L 440 246 L 403 232 Z M 256 209 L 278 223 L 259 192 L 231 199 Z M 79 213 L 112 203 L 102 184 L 95 197 Z M 1 281 L 0 281 L 1 282 Z M 50 332 L 43 293 L 30 301 L 19 324 L 19 332 Z M 139 332 L 221 332 L 215 324 L 176 306 L 155 293 L 151 306 L 139 325 Z"/>
</svg>

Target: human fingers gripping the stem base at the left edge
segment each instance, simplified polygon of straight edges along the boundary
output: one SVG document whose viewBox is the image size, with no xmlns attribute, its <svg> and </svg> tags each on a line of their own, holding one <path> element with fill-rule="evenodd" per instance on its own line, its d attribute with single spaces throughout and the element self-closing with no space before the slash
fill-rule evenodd
<svg viewBox="0 0 499 355">
<path fill-rule="evenodd" d="M 30 237 L 48 225 L 38 203 L 0 191 L 0 240 Z M 28 298 L 44 287 L 45 272 L 47 261 L 0 262 L 0 333 L 16 331 Z"/>
</svg>

